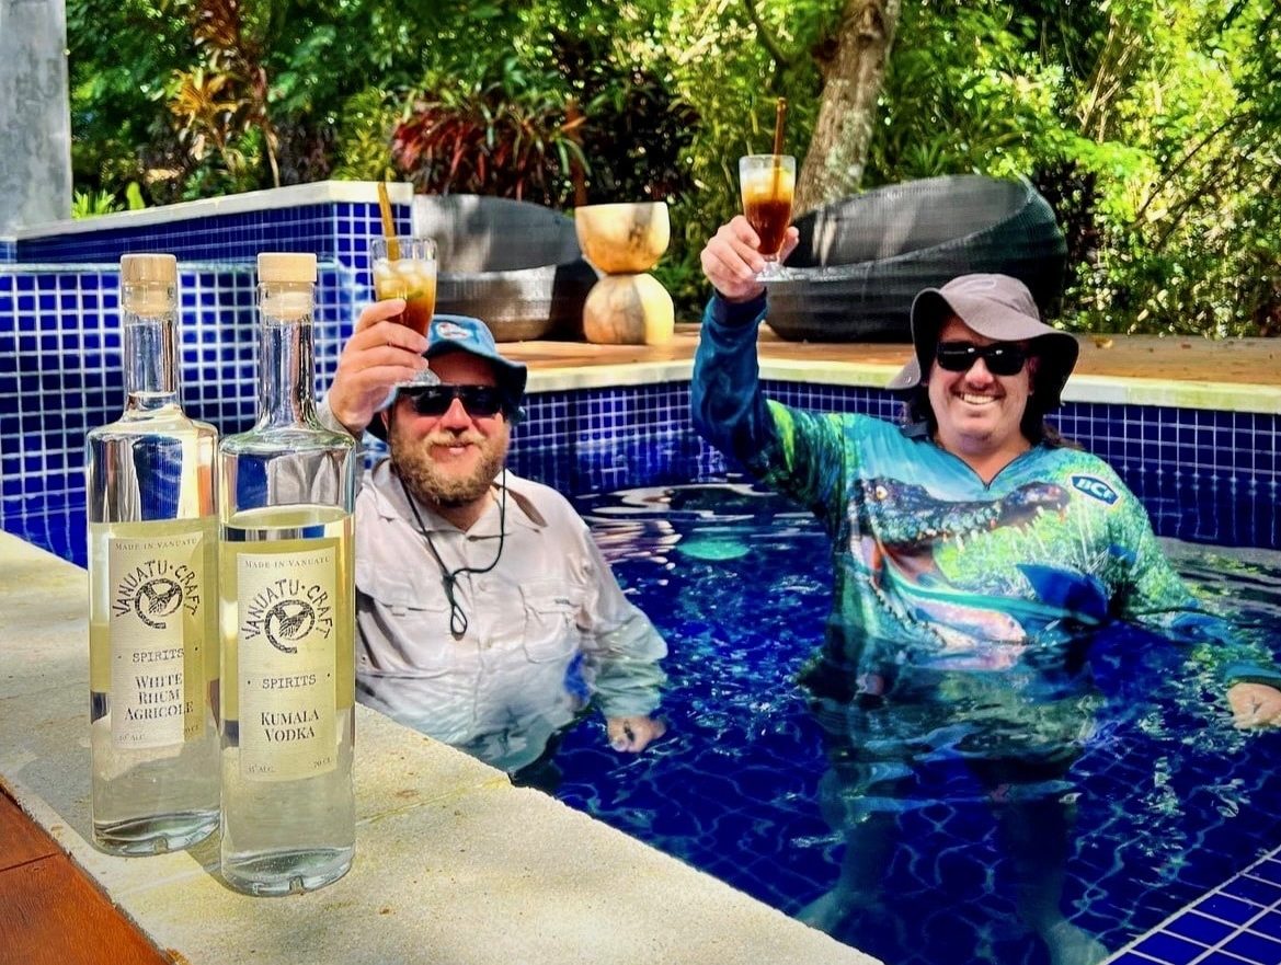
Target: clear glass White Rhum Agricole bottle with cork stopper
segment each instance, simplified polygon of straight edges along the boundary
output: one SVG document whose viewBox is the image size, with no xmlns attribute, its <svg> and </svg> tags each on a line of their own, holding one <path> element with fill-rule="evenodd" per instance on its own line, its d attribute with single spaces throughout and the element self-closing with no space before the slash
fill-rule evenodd
<svg viewBox="0 0 1281 965">
<path fill-rule="evenodd" d="M 177 261 L 120 259 L 126 402 L 86 439 L 94 843 L 218 827 L 218 434 L 178 402 Z"/>
</svg>

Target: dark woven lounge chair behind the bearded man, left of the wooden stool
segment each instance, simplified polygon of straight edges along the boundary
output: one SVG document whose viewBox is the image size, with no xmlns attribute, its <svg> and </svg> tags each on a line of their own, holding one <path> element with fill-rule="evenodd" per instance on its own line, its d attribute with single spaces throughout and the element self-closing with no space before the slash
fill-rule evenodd
<svg viewBox="0 0 1281 965">
<path fill-rule="evenodd" d="M 597 274 L 570 218 L 478 195 L 419 195 L 412 212 L 414 233 L 436 238 L 436 311 L 482 319 L 498 342 L 582 333 Z"/>
</svg>

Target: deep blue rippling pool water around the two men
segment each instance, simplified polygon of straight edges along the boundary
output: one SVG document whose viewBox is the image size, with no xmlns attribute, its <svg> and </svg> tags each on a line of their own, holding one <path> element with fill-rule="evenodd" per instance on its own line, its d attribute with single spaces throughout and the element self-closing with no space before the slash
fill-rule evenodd
<svg viewBox="0 0 1281 965">
<path fill-rule="evenodd" d="M 578 506 L 669 641 L 670 732 L 623 758 L 598 722 L 579 727 L 557 756 L 557 796 L 797 913 L 831 887 L 842 850 L 815 800 L 820 732 L 793 682 L 829 607 L 826 536 L 808 513 L 744 484 Z M 1281 554 L 1167 548 L 1200 591 L 1281 642 Z M 1214 681 L 1152 637 L 1113 639 L 1095 671 L 1108 704 L 1072 769 L 1065 911 L 1114 951 L 1281 841 L 1281 735 L 1235 731 Z M 959 768 L 933 779 L 938 802 L 901 817 L 888 911 L 836 937 L 892 965 L 1044 965 L 1015 915 L 981 792 Z"/>
</svg>

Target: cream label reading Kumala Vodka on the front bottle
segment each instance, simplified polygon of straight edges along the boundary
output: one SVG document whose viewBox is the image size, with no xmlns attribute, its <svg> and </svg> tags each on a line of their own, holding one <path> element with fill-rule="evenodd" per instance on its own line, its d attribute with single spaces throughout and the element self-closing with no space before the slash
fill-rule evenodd
<svg viewBox="0 0 1281 965">
<path fill-rule="evenodd" d="M 297 781 L 338 765 L 338 548 L 333 540 L 316 543 L 320 549 L 236 558 L 246 781 Z"/>
</svg>

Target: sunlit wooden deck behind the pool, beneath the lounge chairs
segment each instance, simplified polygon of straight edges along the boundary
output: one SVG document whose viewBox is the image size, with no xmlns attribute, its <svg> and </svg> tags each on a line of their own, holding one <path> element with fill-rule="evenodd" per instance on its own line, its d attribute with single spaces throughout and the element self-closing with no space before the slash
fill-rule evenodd
<svg viewBox="0 0 1281 965">
<path fill-rule="evenodd" d="M 1081 335 L 1076 372 L 1166 381 L 1228 383 L 1281 388 L 1281 339 L 1249 338 L 1212 342 L 1158 335 Z M 670 362 L 694 357 L 697 325 L 678 325 L 666 346 L 594 346 L 587 342 L 509 342 L 503 355 L 530 369 L 589 367 L 634 362 Z M 762 358 L 879 362 L 902 365 L 907 344 L 831 344 L 784 342 L 761 330 Z"/>
</svg>

